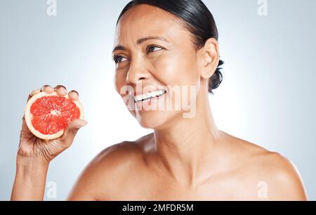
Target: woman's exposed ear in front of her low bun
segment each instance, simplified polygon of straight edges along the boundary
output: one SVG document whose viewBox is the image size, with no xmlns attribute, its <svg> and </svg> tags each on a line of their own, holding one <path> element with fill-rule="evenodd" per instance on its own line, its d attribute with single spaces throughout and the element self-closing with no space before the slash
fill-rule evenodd
<svg viewBox="0 0 316 215">
<path fill-rule="evenodd" d="M 200 51 L 199 56 L 202 63 L 201 77 L 209 79 L 216 71 L 219 63 L 218 41 L 214 38 L 208 39 Z"/>
</svg>

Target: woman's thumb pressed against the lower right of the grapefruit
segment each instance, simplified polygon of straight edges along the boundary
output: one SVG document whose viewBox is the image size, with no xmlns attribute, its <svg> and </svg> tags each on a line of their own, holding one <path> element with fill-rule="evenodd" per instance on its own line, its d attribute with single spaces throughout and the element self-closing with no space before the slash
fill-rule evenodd
<svg viewBox="0 0 316 215">
<path fill-rule="evenodd" d="M 64 134 L 60 137 L 60 141 L 65 143 L 67 146 L 70 146 L 79 129 L 86 126 L 86 124 L 88 124 L 88 122 L 84 119 L 74 119 L 74 121 L 67 125 Z"/>
</svg>

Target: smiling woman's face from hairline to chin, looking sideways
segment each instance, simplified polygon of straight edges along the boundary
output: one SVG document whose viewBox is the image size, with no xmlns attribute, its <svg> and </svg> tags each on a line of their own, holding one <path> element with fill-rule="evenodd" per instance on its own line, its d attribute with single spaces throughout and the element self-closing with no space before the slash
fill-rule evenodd
<svg viewBox="0 0 316 215">
<path fill-rule="evenodd" d="M 162 128 L 183 117 L 197 97 L 202 63 L 192 41 L 183 23 L 160 8 L 139 5 L 121 17 L 114 41 L 114 83 L 141 126 Z M 164 94 L 157 97 L 159 90 Z M 141 100 L 148 96 L 152 99 Z"/>
</svg>

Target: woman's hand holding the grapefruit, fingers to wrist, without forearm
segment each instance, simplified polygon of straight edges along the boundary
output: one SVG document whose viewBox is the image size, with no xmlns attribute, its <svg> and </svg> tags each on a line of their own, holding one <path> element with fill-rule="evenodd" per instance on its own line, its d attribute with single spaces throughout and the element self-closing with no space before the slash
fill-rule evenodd
<svg viewBox="0 0 316 215">
<path fill-rule="evenodd" d="M 27 100 L 41 91 L 44 91 L 48 94 L 56 91 L 58 96 L 67 95 L 67 89 L 65 86 L 58 85 L 53 88 L 51 86 L 45 85 L 41 88 L 41 90 L 32 91 L 32 93 L 29 94 L 29 98 Z M 77 91 L 70 91 L 69 98 L 72 100 L 79 100 L 79 93 L 77 93 Z M 52 141 L 45 141 L 37 138 L 37 136 L 34 136 L 33 133 L 29 131 L 25 122 L 25 117 L 23 116 L 18 159 L 29 158 L 32 160 L 37 160 L 37 162 L 48 164 L 52 159 L 57 157 L 57 155 L 72 145 L 77 131 L 85 125 L 86 121 L 82 119 L 76 119 L 68 124 L 67 128 L 65 129 L 65 133 L 60 138 Z"/>
</svg>

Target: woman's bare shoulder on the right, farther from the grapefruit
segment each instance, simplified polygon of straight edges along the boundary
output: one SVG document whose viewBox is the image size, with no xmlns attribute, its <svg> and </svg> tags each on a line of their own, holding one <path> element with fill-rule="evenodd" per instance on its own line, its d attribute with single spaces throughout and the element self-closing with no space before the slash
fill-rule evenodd
<svg viewBox="0 0 316 215">
<path fill-rule="evenodd" d="M 268 200 L 307 200 L 301 176 L 295 164 L 277 152 L 238 140 L 244 163 L 240 168 L 249 183 L 266 188 Z"/>
</svg>

